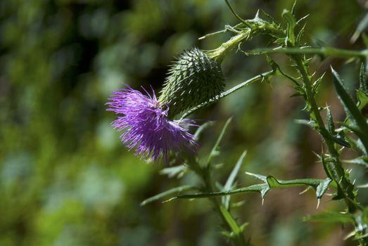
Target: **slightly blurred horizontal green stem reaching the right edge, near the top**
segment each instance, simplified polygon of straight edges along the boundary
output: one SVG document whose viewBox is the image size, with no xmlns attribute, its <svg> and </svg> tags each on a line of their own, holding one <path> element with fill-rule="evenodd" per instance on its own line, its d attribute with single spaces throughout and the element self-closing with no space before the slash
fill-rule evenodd
<svg viewBox="0 0 368 246">
<path fill-rule="evenodd" d="M 367 60 L 368 49 L 362 51 L 351 51 L 342 48 L 334 47 L 291 47 L 291 48 L 257 48 L 249 52 L 250 54 L 270 54 L 270 53 L 286 53 L 289 55 L 320 55 L 320 56 L 331 56 L 337 58 L 362 58 Z M 247 53 L 247 54 L 249 54 Z"/>
</svg>

